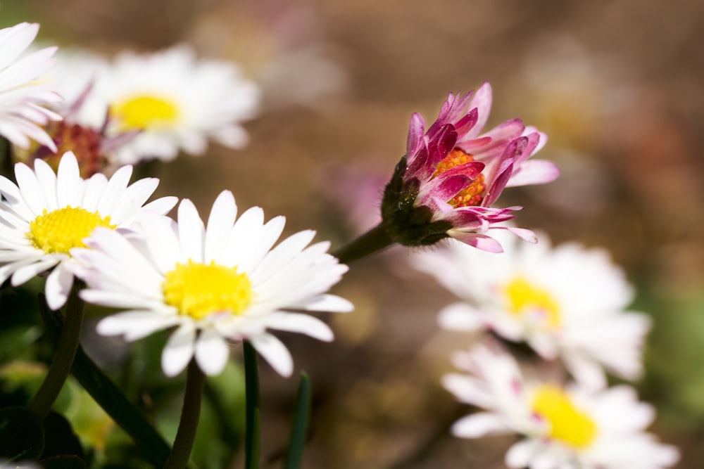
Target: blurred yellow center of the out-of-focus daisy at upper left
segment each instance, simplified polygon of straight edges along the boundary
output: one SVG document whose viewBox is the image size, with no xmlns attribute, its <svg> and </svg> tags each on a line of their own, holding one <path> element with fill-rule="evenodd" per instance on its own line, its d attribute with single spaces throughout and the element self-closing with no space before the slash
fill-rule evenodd
<svg viewBox="0 0 704 469">
<path fill-rule="evenodd" d="M 113 108 L 125 130 L 170 127 L 179 117 L 175 103 L 155 96 L 137 96 Z"/>
</svg>

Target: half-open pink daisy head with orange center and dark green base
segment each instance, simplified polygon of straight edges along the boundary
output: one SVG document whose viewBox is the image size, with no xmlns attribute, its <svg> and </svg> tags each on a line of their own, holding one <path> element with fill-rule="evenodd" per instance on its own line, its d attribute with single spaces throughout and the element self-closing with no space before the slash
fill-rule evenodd
<svg viewBox="0 0 704 469">
<path fill-rule="evenodd" d="M 503 122 L 481 134 L 491 108 L 491 86 L 475 93 L 450 94 L 437 120 L 425 129 L 420 114 L 411 117 L 406 156 L 384 192 L 382 217 L 391 237 L 404 245 L 433 244 L 448 236 L 476 248 L 501 252 L 486 236 L 513 219 L 520 207 L 493 208 L 503 188 L 542 184 L 558 169 L 548 161 L 528 159 L 547 136 L 520 119 Z"/>
</svg>

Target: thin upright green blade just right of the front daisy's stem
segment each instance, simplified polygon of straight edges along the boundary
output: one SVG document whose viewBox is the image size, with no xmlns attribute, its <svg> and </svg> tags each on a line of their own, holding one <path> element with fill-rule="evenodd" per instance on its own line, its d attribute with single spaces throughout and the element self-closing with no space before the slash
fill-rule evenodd
<svg viewBox="0 0 704 469">
<path fill-rule="evenodd" d="M 261 409 L 259 402 L 259 369 L 257 352 L 244 341 L 244 387 L 246 399 L 246 424 L 244 433 L 244 467 L 259 468 Z"/>
</svg>

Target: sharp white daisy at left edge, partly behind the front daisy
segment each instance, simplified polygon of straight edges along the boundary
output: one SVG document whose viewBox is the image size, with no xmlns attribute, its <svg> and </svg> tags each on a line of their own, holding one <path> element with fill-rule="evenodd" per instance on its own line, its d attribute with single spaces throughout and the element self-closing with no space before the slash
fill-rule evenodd
<svg viewBox="0 0 704 469">
<path fill-rule="evenodd" d="M 122 231 L 140 210 L 165 214 L 176 205 L 175 197 L 144 205 L 159 181 L 146 178 L 128 186 L 130 176 L 132 167 L 125 166 L 110 179 L 103 174 L 82 179 L 71 152 L 63 155 L 56 174 L 35 160 L 33 171 L 15 165 L 17 184 L 0 176 L 0 283 L 11 277 L 20 285 L 53 269 L 46 278 L 46 302 L 51 309 L 63 306 L 73 285 L 72 248 L 84 247 L 84 238 L 98 226 Z"/>
</svg>

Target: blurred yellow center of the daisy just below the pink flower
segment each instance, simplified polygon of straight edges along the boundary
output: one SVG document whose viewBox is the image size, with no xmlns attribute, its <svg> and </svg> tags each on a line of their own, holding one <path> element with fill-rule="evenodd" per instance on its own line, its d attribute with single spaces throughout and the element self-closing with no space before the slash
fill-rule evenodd
<svg viewBox="0 0 704 469">
<path fill-rule="evenodd" d="M 547 290 L 518 276 L 505 285 L 504 293 L 514 316 L 539 315 L 548 328 L 560 327 L 560 304 Z"/>
</svg>

